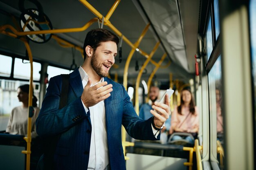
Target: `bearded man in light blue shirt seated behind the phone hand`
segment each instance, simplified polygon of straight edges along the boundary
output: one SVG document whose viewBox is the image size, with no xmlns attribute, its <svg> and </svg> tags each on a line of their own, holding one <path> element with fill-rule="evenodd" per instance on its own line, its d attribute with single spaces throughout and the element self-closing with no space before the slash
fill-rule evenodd
<svg viewBox="0 0 256 170">
<path fill-rule="evenodd" d="M 142 104 L 140 109 L 139 109 L 139 117 L 141 117 L 144 120 L 149 119 L 150 117 L 152 117 L 153 115 L 150 113 L 150 110 L 152 110 L 152 105 L 155 104 L 155 101 L 157 101 L 157 97 L 159 95 L 159 88 L 157 86 L 151 86 L 150 87 L 150 91 L 149 91 L 149 99 L 151 100 L 151 104 L 150 103 L 145 103 Z M 161 130 L 161 136 L 160 136 L 160 142 L 161 144 L 166 144 L 167 143 L 167 136 L 168 131 L 170 129 L 171 126 L 171 117 L 169 117 L 166 122 L 165 122 L 165 126 L 164 128 L 162 128 Z"/>
</svg>

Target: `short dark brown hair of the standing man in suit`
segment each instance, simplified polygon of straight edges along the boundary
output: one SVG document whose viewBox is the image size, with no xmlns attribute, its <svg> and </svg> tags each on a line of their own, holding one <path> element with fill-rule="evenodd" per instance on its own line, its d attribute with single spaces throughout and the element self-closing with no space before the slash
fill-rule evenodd
<svg viewBox="0 0 256 170">
<path fill-rule="evenodd" d="M 85 60 L 86 58 L 86 46 L 91 46 L 93 51 L 95 51 L 97 47 L 100 46 L 101 42 L 108 41 L 115 42 L 118 45 L 119 38 L 117 37 L 117 35 L 115 35 L 111 31 L 108 31 L 107 29 L 92 29 L 91 31 L 89 31 L 85 37 L 85 41 L 83 44 L 83 60 Z"/>
</svg>

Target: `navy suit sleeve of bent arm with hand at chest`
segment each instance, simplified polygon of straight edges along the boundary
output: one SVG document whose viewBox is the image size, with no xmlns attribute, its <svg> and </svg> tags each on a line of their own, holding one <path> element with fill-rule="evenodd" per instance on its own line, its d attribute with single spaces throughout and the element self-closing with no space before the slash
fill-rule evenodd
<svg viewBox="0 0 256 170">
<path fill-rule="evenodd" d="M 77 97 L 67 106 L 58 109 L 61 85 L 62 78 L 60 75 L 52 77 L 49 81 L 42 108 L 36 119 L 36 132 L 40 137 L 61 134 L 75 126 L 86 116 L 81 97 Z"/>
</svg>

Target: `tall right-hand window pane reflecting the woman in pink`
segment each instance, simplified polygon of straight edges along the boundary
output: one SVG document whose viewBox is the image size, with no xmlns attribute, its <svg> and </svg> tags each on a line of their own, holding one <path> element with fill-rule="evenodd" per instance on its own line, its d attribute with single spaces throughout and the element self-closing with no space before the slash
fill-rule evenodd
<svg viewBox="0 0 256 170">
<path fill-rule="evenodd" d="M 213 135 L 217 139 L 216 146 L 222 147 L 223 146 L 223 133 L 224 133 L 224 126 L 223 126 L 223 112 L 222 112 L 222 77 L 221 77 L 221 56 L 218 57 L 215 64 L 211 68 L 209 72 L 209 107 L 210 107 L 210 124 L 211 126 L 211 133 L 215 133 Z M 217 148 L 212 148 L 212 152 L 215 152 L 214 155 L 219 159 L 220 169 L 223 168 L 223 157 L 220 153 L 217 155 Z"/>
</svg>

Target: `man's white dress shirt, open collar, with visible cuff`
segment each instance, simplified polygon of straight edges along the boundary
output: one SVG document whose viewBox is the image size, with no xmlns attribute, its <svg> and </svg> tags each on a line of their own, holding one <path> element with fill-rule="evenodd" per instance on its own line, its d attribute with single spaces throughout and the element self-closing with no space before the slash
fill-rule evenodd
<svg viewBox="0 0 256 170">
<path fill-rule="evenodd" d="M 88 74 L 79 67 L 79 73 L 82 79 L 83 88 L 88 83 Z M 104 82 L 104 77 L 101 77 L 101 80 L 96 84 Z M 91 84 L 94 86 L 96 84 Z M 82 102 L 83 103 L 83 102 Z M 85 112 L 88 113 L 90 110 L 90 119 L 92 123 L 92 137 L 90 144 L 90 155 L 88 170 L 108 170 L 109 157 L 108 157 L 108 141 L 107 141 L 107 131 L 106 131 L 106 111 L 104 101 L 95 104 L 92 107 L 85 107 Z M 155 137 L 159 135 L 159 131 L 155 130 L 151 125 L 153 134 Z"/>
</svg>

